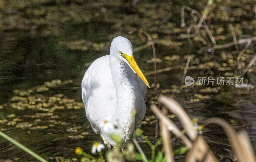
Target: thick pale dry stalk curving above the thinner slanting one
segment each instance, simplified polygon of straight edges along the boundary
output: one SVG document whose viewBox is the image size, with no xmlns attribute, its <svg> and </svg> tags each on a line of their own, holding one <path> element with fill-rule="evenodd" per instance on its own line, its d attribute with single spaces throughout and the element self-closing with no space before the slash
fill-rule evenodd
<svg viewBox="0 0 256 162">
<path fill-rule="evenodd" d="M 194 128 L 194 124 L 189 118 L 186 111 L 180 106 L 180 104 L 173 98 L 169 98 L 161 95 L 159 101 L 162 102 L 173 114 L 175 114 L 182 124 L 183 128 L 186 130 L 188 137 L 195 141 L 198 135 L 198 131 Z"/>
</svg>

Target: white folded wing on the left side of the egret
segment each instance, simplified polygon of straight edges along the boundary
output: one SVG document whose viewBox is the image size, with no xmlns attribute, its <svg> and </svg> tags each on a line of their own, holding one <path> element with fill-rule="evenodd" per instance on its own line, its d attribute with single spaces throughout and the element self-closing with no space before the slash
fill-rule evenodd
<svg viewBox="0 0 256 162">
<path fill-rule="evenodd" d="M 99 122 L 102 118 L 115 112 L 111 109 L 116 108 L 115 88 L 108 62 L 109 55 L 93 61 L 82 81 L 86 117 L 95 133 L 100 133 Z"/>
</svg>

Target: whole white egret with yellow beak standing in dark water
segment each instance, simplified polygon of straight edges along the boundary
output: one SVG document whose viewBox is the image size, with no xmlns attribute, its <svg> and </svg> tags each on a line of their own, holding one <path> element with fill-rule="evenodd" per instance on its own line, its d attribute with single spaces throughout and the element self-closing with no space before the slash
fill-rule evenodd
<svg viewBox="0 0 256 162">
<path fill-rule="evenodd" d="M 118 36 L 110 53 L 95 60 L 82 81 L 82 98 L 86 117 L 95 133 L 100 134 L 110 149 L 116 142 L 109 133 L 119 135 L 123 142 L 132 134 L 134 124 L 140 128 L 146 113 L 144 97 L 150 88 L 132 53 L 132 44 Z M 136 109 L 135 121 L 132 111 Z M 114 126 L 104 127 L 104 124 Z"/>
</svg>

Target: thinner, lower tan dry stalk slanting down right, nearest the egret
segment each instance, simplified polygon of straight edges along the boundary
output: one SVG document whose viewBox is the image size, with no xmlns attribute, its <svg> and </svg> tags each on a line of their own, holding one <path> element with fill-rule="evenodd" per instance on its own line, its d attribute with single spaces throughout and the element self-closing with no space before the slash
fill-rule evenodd
<svg viewBox="0 0 256 162">
<path fill-rule="evenodd" d="M 150 105 L 150 108 L 156 114 L 156 116 L 166 125 L 166 127 L 168 129 L 170 128 L 169 130 L 171 130 L 175 136 L 178 136 L 188 148 L 192 148 L 192 142 L 184 134 L 181 133 L 180 129 L 176 126 L 175 123 L 173 123 L 168 117 L 166 117 L 164 113 L 157 108 L 156 105 Z"/>
</svg>

